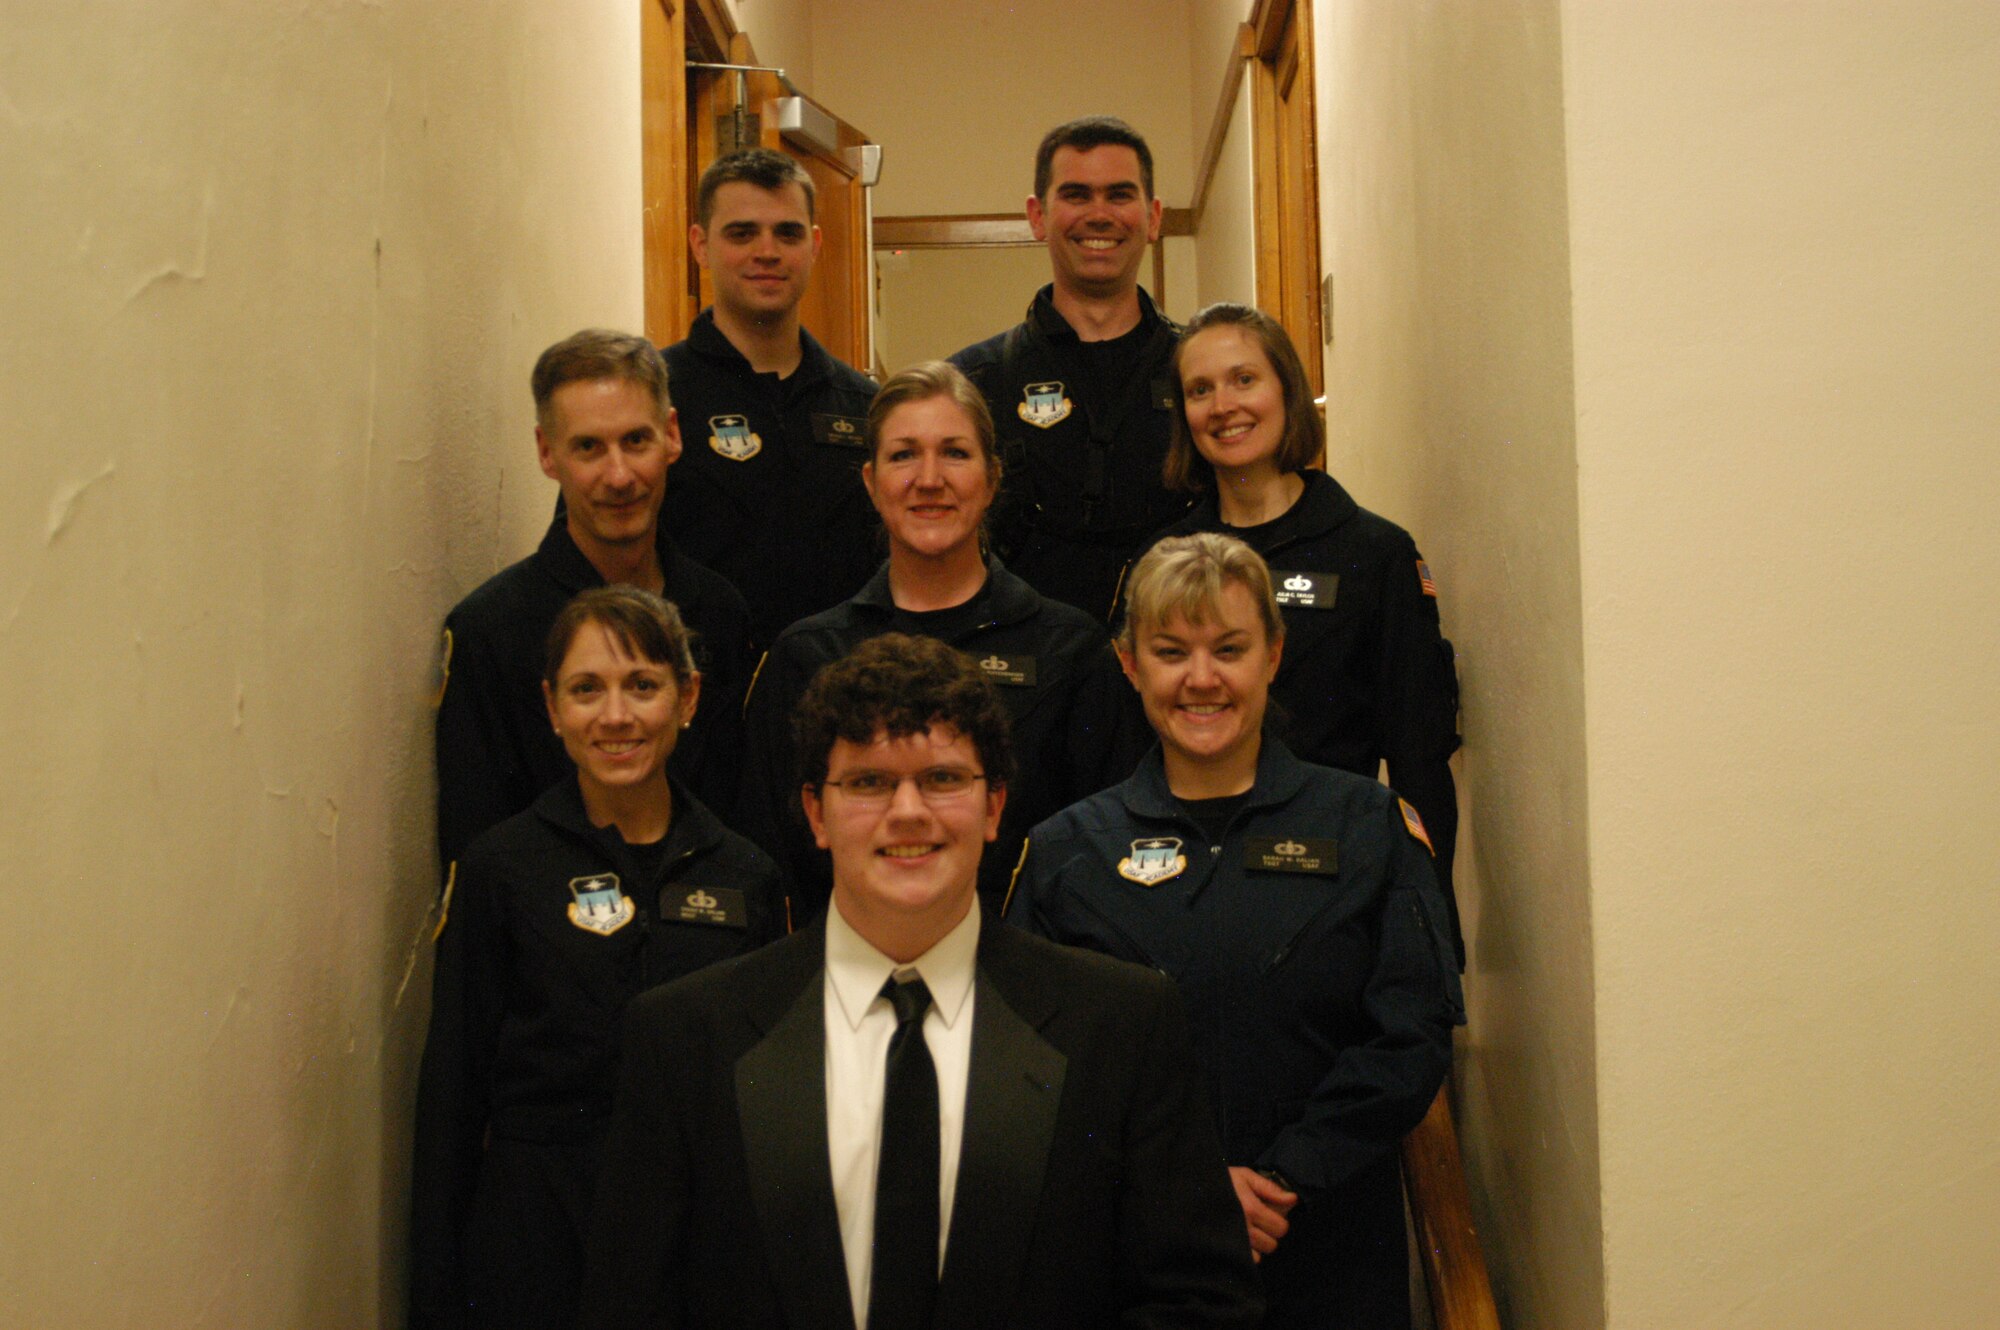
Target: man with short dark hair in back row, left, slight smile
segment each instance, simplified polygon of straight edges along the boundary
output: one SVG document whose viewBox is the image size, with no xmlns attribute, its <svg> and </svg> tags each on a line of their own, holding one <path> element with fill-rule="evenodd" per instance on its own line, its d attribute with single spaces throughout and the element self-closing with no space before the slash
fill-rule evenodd
<svg viewBox="0 0 2000 1330">
<path fill-rule="evenodd" d="M 662 522 L 750 602 L 756 644 L 852 596 L 882 554 L 862 490 L 874 382 L 800 326 L 812 176 L 768 148 L 702 172 L 688 248 L 714 304 L 666 348 L 686 452 Z"/>
</svg>

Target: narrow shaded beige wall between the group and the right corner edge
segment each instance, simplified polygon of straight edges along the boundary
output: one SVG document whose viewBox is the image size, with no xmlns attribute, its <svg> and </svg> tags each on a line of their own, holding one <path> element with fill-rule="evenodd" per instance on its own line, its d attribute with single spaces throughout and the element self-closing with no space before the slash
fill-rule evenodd
<svg viewBox="0 0 2000 1330">
<path fill-rule="evenodd" d="M 1460 1132 L 1510 1326 L 1602 1324 L 1554 0 L 1318 0 L 1328 466 L 1416 536 L 1464 688 Z M 1690 1322 L 1698 1324 L 1698 1322 Z"/>
</svg>

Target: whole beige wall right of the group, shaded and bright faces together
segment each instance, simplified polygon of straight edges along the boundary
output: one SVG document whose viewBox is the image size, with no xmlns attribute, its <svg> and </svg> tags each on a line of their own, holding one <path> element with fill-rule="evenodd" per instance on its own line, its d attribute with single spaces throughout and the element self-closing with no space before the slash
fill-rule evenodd
<svg viewBox="0 0 2000 1330">
<path fill-rule="evenodd" d="M 2000 14 L 1316 14 L 1332 464 L 1462 648 L 1508 1324 L 1990 1324 Z"/>
</svg>

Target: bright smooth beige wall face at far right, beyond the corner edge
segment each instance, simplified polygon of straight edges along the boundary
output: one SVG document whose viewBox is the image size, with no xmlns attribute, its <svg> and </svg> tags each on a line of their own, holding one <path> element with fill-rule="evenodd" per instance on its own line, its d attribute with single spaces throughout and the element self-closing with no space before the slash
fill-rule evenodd
<svg viewBox="0 0 2000 1330">
<path fill-rule="evenodd" d="M 2000 8 L 1562 20 L 1610 1322 L 1996 1324 Z"/>
</svg>

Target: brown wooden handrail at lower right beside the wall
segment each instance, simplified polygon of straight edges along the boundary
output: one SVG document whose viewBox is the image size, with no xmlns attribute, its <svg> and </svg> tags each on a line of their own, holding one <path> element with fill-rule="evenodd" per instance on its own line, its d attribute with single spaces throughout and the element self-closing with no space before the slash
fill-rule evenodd
<svg viewBox="0 0 2000 1330">
<path fill-rule="evenodd" d="M 1486 1254 L 1472 1224 L 1472 1192 L 1444 1088 L 1402 1140 L 1402 1186 L 1438 1330 L 1500 1330 Z"/>
</svg>

